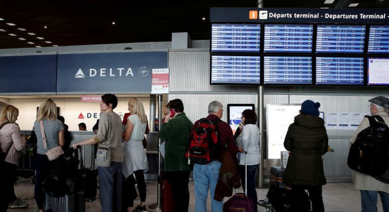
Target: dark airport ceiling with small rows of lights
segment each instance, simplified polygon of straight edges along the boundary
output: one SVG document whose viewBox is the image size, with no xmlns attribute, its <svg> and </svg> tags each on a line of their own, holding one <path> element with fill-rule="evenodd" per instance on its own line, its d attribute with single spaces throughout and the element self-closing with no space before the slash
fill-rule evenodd
<svg viewBox="0 0 389 212">
<path fill-rule="evenodd" d="M 262 2 L 264 8 L 389 8 L 389 0 Z M 210 7 L 258 7 L 258 1 L 0 0 L 0 49 L 171 41 L 179 32 L 210 39 Z"/>
</svg>

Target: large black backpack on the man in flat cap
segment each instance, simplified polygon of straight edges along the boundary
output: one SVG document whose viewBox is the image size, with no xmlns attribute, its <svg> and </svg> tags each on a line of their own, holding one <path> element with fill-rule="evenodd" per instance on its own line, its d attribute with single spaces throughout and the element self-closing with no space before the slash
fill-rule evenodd
<svg viewBox="0 0 389 212">
<path fill-rule="evenodd" d="M 347 165 L 357 172 L 378 177 L 389 169 L 389 128 L 379 115 L 365 117 L 370 126 L 351 145 Z"/>
</svg>

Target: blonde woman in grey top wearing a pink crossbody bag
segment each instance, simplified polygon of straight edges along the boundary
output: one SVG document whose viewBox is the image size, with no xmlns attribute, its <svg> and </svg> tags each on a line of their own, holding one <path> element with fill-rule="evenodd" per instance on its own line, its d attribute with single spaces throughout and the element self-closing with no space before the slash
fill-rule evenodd
<svg viewBox="0 0 389 212">
<path fill-rule="evenodd" d="M 43 212 L 44 191 L 43 180 L 46 178 L 50 165 L 53 163 L 46 155 L 46 148 L 43 145 L 42 133 L 39 122 L 43 122 L 44 133 L 46 137 L 47 149 L 52 149 L 58 145 L 65 144 L 64 124 L 58 120 L 57 105 L 53 100 L 47 99 L 40 104 L 38 115 L 34 122 L 33 131 L 36 134 L 36 182 L 34 188 L 35 202 L 39 212 Z"/>
</svg>

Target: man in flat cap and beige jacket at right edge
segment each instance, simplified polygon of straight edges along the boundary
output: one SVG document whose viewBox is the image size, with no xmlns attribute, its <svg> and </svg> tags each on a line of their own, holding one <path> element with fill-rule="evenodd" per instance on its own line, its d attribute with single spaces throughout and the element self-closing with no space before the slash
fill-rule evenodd
<svg viewBox="0 0 389 212">
<path fill-rule="evenodd" d="M 381 116 L 385 123 L 389 124 L 389 99 L 386 97 L 375 97 L 369 100 L 369 102 L 370 105 L 368 105 L 368 108 L 370 109 L 370 114 L 372 116 Z M 367 118 L 363 118 L 350 142 L 354 143 L 359 132 L 369 126 L 369 120 Z M 361 212 L 377 212 L 378 194 L 380 194 L 384 212 L 389 212 L 389 184 L 359 172 L 354 172 L 353 181 L 354 188 L 360 190 L 362 206 Z"/>
</svg>

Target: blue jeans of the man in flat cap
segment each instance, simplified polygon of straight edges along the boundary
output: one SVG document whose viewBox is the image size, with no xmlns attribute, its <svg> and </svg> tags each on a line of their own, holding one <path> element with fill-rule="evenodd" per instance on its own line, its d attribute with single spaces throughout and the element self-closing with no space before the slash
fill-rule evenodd
<svg viewBox="0 0 389 212">
<path fill-rule="evenodd" d="M 360 190 L 361 212 L 377 212 L 377 197 L 380 194 L 382 209 L 389 212 L 389 194 L 383 191 Z"/>
</svg>

